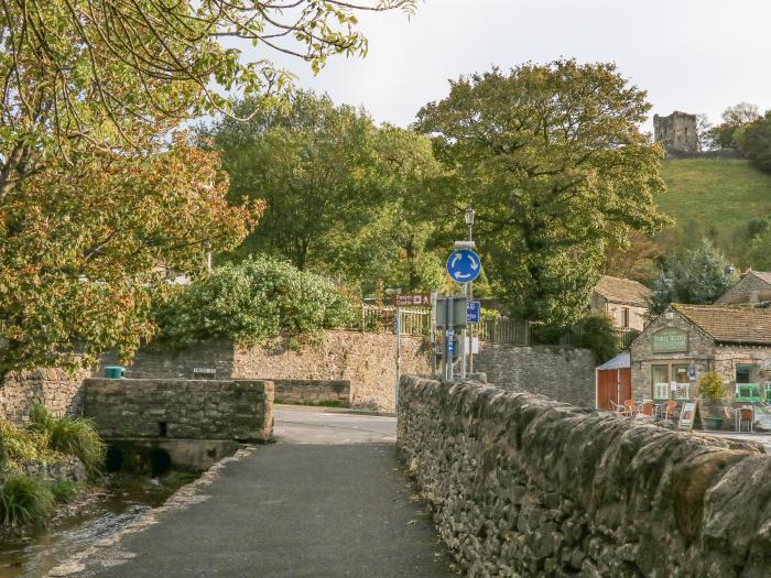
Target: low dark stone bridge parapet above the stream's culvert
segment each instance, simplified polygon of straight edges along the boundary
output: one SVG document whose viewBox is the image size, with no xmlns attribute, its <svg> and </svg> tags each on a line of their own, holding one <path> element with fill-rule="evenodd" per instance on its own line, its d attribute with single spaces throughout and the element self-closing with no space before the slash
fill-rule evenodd
<svg viewBox="0 0 771 578">
<path fill-rule="evenodd" d="M 106 438 L 264 441 L 273 433 L 270 381 L 91 378 L 84 399 Z"/>
</svg>

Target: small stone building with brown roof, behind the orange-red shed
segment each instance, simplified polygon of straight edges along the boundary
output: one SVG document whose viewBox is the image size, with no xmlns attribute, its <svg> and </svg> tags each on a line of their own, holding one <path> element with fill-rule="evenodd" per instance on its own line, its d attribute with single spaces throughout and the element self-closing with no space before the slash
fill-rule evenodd
<svg viewBox="0 0 771 578">
<path fill-rule="evenodd" d="M 648 313 L 645 297 L 650 294 L 642 283 L 604 275 L 591 292 L 590 309 L 609 315 L 619 329 L 642 331 Z"/>
</svg>

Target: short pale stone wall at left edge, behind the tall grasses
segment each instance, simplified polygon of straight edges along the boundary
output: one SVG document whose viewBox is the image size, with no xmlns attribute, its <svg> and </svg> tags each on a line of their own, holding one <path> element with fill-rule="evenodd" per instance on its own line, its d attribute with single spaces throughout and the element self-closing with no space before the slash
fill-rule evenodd
<svg viewBox="0 0 771 578">
<path fill-rule="evenodd" d="M 67 373 L 56 368 L 11 372 L 0 386 L 0 418 L 28 422 L 33 402 L 43 404 L 56 417 L 80 415 L 80 384 L 88 375 L 88 370 Z"/>
</svg>

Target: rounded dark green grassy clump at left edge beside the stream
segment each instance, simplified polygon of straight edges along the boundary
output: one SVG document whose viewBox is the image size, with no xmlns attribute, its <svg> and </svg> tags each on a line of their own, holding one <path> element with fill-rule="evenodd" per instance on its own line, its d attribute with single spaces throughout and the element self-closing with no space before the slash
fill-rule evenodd
<svg viewBox="0 0 771 578">
<path fill-rule="evenodd" d="M 15 526 L 45 517 L 54 508 L 54 494 L 40 478 L 14 475 L 0 486 L 0 520 Z"/>
</svg>

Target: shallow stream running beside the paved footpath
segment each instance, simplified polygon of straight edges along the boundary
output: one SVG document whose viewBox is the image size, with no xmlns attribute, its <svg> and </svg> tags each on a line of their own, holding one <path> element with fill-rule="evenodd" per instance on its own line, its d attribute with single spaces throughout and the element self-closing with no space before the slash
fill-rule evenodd
<svg viewBox="0 0 771 578">
<path fill-rule="evenodd" d="M 122 530 L 152 508 L 162 505 L 193 477 L 171 472 L 163 478 L 112 475 L 101 490 L 91 490 L 85 506 L 69 508 L 43 527 L 23 536 L 0 535 L 0 578 L 39 577 L 95 542 Z"/>
</svg>

